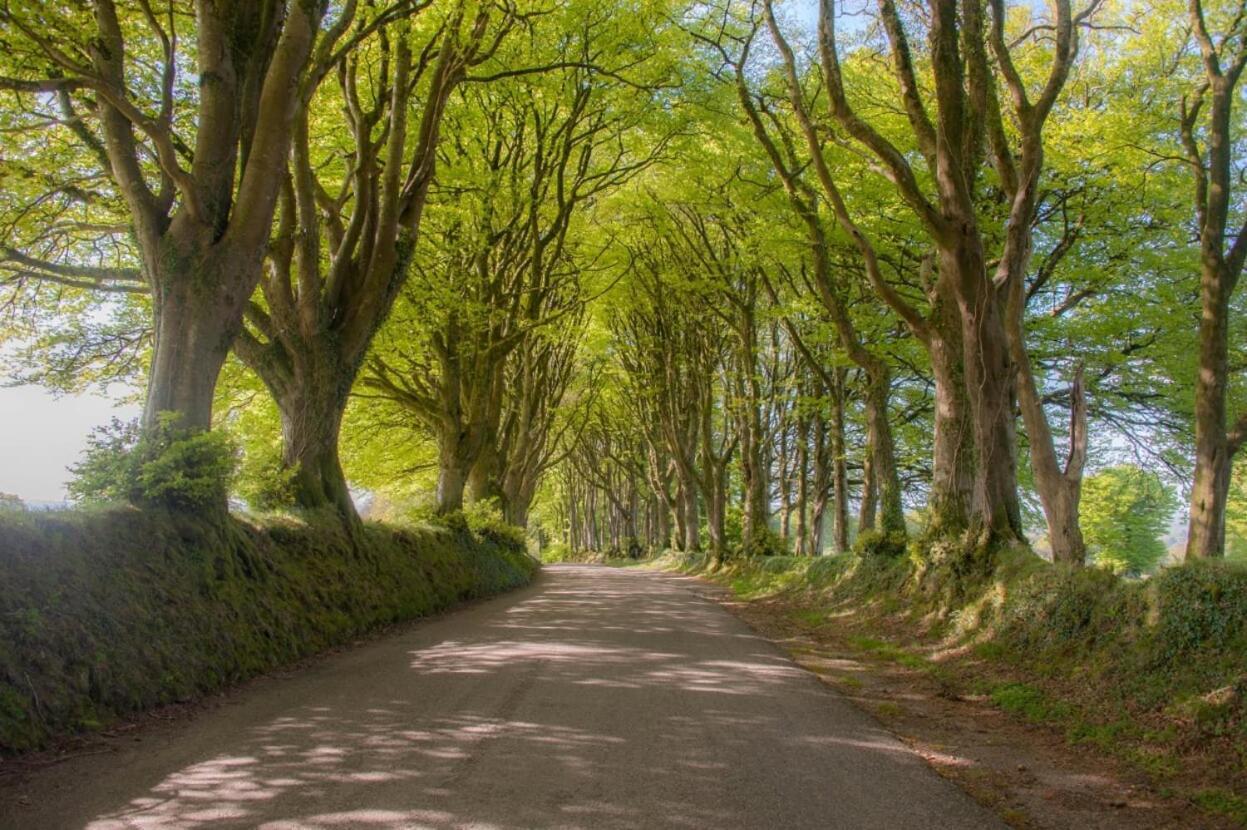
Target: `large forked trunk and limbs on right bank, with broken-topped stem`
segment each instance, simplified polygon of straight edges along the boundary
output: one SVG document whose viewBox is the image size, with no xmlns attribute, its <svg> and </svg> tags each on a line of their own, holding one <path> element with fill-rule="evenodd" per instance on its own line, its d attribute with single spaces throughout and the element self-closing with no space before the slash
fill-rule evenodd
<svg viewBox="0 0 1247 830">
<path fill-rule="evenodd" d="M 923 85 L 912 49 L 907 22 L 890 0 L 880 0 L 879 17 L 887 35 L 892 69 L 902 108 L 912 130 L 917 157 L 925 165 L 924 174 L 915 169 L 903 148 L 859 115 L 844 81 L 835 36 L 833 0 L 819 0 L 818 46 L 822 80 L 828 111 L 835 123 L 864 151 L 870 153 L 895 186 L 899 197 L 914 212 L 935 250 L 935 268 L 946 280 L 948 295 L 955 299 L 960 315 L 961 371 L 969 403 L 975 450 L 975 477 L 971 492 L 971 525 L 990 538 L 1021 538 L 1021 513 L 1018 503 L 1016 450 L 1011 398 L 1018 380 L 1019 400 L 1028 429 L 1033 464 L 1039 470 L 1038 486 L 1054 550 L 1061 558 L 1081 558 L 1077 538 L 1076 479 L 1081 470 L 1077 445 L 1071 447 L 1066 472 L 1056 471 L 1055 451 L 1047 439 L 1046 419 L 1034 393 L 1034 383 L 1024 360 L 1020 336 L 1020 309 L 1016 298 L 1031 252 L 1031 222 L 1042 172 L 1042 128 L 1069 76 L 1077 51 L 1077 27 L 1097 9 L 1092 2 L 1074 14 L 1067 0 L 1055 0 L 1054 20 L 1046 29 L 1055 34 L 1055 47 L 1040 77 L 1038 93 L 1019 71 L 1015 49 L 1005 37 L 1006 6 L 994 0 L 940 0 L 930 9 L 928 57 L 934 97 L 932 107 L 923 97 Z M 771 5 L 767 4 L 769 11 Z M 781 44 L 778 26 L 769 15 L 772 34 Z M 1045 27 L 1034 27 L 1034 35 Z M 1023 39 L 1025 42 L 1028 37 Z M 989 60 L 995 59 L 996 71 Z M 791 51 L 787 64 L 793 66 Z M 1003 76 L 998 82 L 996 75 Z M 794 70 L 789 70 L 796 90 Z M 1008 111 L 1000 103 L 998 83 L 1011 101 Z M 1005 112 L 1016 132 L 1016 146 L 1009 138 Z M 809 128 L 806 137 L 817 157 L 818 141 Z M 988 229 L 990 219 L 981 213 L 979 187 L 984 153 L 991 163 L 1008 201 L 1005 233 L 995 273 L 988 267 Z M 817 162 L 817 160 L 816 160 Z M 924 186 L 925 177 L 933 187 Z M 824 189 L 834 186 L 829 174 L 819 171 Z M 933 191 L 933 192 L 930 192 Z M 828 189 L 833 204 L 837 196 Z M 837 216 L 844 223 L 843 211 Z M 848 229 L 853 233 L 852 229 Z M 860 238 L 858 244 L 862 246 Z M 882 280 L 873 279 L 877 288 Z M 1072 510 L 1071 510 L 1072 505 Z"/>
</svg>

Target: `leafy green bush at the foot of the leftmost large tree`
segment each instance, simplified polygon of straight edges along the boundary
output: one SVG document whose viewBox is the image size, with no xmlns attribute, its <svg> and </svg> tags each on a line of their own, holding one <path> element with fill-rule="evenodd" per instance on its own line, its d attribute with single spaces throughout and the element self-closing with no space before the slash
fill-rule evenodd
<svg viewBox="0 0 1247 830">
<path fill-rule="evenodd" d="M 113 419 L 82 456 L 71 469 L 74 500 L 180 510 L 223 507 L 238 464 L 226 434 L 181 429 L 170 417 L 150 430 Z"/>
</svg>

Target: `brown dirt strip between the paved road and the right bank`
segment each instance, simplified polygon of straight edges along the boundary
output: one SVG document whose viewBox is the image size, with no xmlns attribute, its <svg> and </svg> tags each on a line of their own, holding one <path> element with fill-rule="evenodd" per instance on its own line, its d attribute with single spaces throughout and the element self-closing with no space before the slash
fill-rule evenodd
<svg viewBox="0 0 1247 830">
<path fill-rule="evenodd" d="M 1122 761 L 1071 745 L 1054 728 L 1001 712 L 981 685 L 981 665 L 907 665 L 899 632 L 811 613 L 801 593 L 741 601 L 702 582 L 707 596 L 752 626 L 854 704 L 873 713 L 940 775 L 1023 829 L 1190 830 L 1236 828 L 1168 795 Z M 869 637 L 869 638 L 868 638 Z M 875 638 L 887 638 L 875 639 Z M 863 647 L 863 642 L 868 646 Z M 875 647 L 872 647 L 875 646 Z M 918 647 L 915 646 L 915 649 Z"/>
</svg>

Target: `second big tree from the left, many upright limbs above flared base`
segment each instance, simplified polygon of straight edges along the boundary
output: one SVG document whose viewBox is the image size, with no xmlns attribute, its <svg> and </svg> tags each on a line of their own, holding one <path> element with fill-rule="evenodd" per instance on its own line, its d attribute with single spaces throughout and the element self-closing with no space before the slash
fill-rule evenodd
<svg viewBox="0 0 1247 830">
<path fill-rule="evenodd" d="M 268 269 L 234 346 L 277 401 L 296 502 L 348 521 L 347 396 L 407 280 L 450 96 L 516 22 L 493 2 L 456 2 L 435 20 L 419 10 L 375 26 L 342 57 L 337 88 L 311 91 L 319 110 L 301 108 Z M 345 147 L 337 131 L 313 135 L 339 118 Z"/>
</svg>

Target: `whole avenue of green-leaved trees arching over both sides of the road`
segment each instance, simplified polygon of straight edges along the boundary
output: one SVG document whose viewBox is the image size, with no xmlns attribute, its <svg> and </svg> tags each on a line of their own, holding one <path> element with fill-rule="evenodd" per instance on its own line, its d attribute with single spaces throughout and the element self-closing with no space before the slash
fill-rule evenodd
<svg viewBox="0 0 1247 830">
<path fill-rule="evenodd" d="M 0 0 L 0 46 L 5 379 L 143 405 L 84 500 L 1247 548 L 1242 4 Z"/>
</svg>

